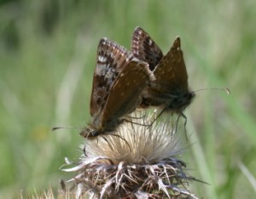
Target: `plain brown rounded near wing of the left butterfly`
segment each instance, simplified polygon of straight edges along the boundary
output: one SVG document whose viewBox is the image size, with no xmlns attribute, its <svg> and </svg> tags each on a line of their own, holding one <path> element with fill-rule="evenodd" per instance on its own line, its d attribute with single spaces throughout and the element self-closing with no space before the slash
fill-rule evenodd
<svg viewBox="0 0 256 199">
<path fill-rule="evenodd" d="M 147 63 L 131 60 L 113 83 L 103 111 L 102 123 L 125 117 L 135 111 L 141 102 L 143 89 L 149 83 L 149 77 Z"/>
</svg>

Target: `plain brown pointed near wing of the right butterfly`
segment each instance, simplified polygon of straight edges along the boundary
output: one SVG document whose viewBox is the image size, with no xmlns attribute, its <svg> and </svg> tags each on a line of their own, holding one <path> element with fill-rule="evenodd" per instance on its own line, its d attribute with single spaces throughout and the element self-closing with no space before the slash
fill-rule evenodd
<svg viewBox="0 0 256 199">
<path fill-rule="evenodd" d="M 175 39 L 172 48 L 160 60 L 153 73 L 155 85 L 160 93 L 188 90 L 188 74 L 179 37 Z"/>
</svg>

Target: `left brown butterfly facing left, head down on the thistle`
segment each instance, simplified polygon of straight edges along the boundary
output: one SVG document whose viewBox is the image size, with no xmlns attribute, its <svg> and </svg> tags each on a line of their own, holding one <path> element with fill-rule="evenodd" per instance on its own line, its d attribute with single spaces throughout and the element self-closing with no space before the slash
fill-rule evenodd
<svg viewBox="0 0 256 199">
<path fill-rule="evenodd" d="M 115 130 L 142 102 L 141 94 L 149 82 L 146 62 L 137 60 L 118 43 L 102 38 L 90 96 L 92 122 L 80 134 L 90 139 Z"/>
</svg>

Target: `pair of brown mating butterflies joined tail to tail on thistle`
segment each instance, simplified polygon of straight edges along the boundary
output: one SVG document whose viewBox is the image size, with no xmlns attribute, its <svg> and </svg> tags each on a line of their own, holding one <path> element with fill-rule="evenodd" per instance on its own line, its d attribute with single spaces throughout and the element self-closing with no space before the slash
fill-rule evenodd
<svg viewBox="0 0 256 199">
<path fill-rule="evenodd" d="M 90 139 L 108 134 L 136 108 L 161 106 L 184 117 L 183 110 L 194 97 L 179 37 L 166 55 L 140 27 L 133 33 L 131 52 L 102 38 L 90 97 L 92 123 L 81 135 Z"/>
</svg>

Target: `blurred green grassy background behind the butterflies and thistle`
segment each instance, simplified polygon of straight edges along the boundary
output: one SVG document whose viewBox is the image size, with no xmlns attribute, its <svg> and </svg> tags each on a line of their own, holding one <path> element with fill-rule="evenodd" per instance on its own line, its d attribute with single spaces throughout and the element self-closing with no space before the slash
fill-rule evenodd
<svg viewBox="0 0 256 199">
<path fill-rule="evenodd" d="M 186 111 L 192 151 L 189 173 L 211 185 L 190 187 L 204 198 L 256 196 L 256 2 L 217 1 L 1 1 L 0 197 L 52 186 L 73 173 L 84 126 L 96 48 L 101 37 L 131 46 L 141 26 L 163 52 L 178 35 L 192 90 Z M 253 177 L 254 176 L 254 177 Z"/>
</svg>

